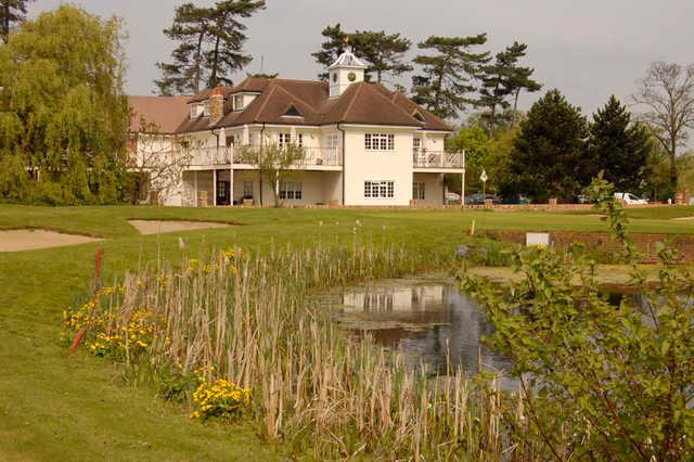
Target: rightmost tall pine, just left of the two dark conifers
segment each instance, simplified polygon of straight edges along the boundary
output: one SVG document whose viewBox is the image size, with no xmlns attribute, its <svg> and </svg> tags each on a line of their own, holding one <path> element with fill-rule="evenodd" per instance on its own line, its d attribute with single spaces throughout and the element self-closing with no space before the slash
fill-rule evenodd
<svg viewBox="0 0 694 462">
<path fill-rule="evenodd" d="M 530 79 L 535 72 L 529 67 L 518 66 L 518 60 L 525 56 L 528 46 L 513 42 L 512 46 L 497 53 L 493 64 L 483 66 L 479 104 L 488 107 L 489 137 L 493 137 L 497 123 L 497 106 L 506 110 L 511 106 L 509 97 L 514 97 L 511 126 L 515 125 L 515 114 L 522 90 L 538 91 L 542 86 Z"/>
</svg>

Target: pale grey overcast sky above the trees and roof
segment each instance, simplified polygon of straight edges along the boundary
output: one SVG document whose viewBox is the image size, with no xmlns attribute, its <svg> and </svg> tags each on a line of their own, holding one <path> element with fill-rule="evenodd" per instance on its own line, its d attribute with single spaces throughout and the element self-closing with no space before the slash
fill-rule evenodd
<svg viewBox="0 0 694 462">
<path fill-rule="evenodd" d="M 37 0 L 30 14 L 63 2 Z M 171 24 L 174 8 L 182 1 L 72 3 L 125 20 L 127 90 L 151 94 L 157 77 L 155 63 L 167 61 L 172 49 L 162 29 Z M 336 22 L 345 30 L 401 33 L 413 42 L 429 35 L 487 33 L 494 52 L 514 40 L 528 43 L 526 64 L 537 69 L 543 91 L 561 89 L 586 113 L 604 104 L 612 93 L 627 99 L 652 61 L 694 62 L 693 0 L 268 0 L 267 4 L 247 21 L 246 50 L 254 56 L 247 70 L 259 70 L 262 55 L 266 72 L 286 78 L 316 77 L 320 69 L 310 53 L 320 46 L 323 27 Z M 524 95 L 522 106 L 528 107 L 536 98 Z"/>
</svg>

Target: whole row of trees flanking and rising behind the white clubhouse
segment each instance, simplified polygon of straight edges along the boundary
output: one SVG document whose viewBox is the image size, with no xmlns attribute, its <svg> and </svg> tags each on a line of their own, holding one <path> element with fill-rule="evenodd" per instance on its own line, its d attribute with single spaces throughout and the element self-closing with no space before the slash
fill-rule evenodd
<svg viewBox="0 0 694 462">
<path fill-rule="evenodd" d="M 132 183 L 123 23 L 70 5 L 23 22 L 27 4 L 0 0 L 0 198 L 121 201 Z M 177 8 L 165 34 L 178 46 L 172 61 L 159 64 L 160 92 L 231 85 L 250 62 L 243 20 L 264 8 L 250 0 Z M 566 201 L 600 170 L 620 189 L 652 197 L 694 185 L 694 156 L 682 155 L 694 127 L 694 65 L 653 63 L 629 101 L 633 114 L 612 99 L 589 123 L 558 90 L 527 114 L 517 110 L 523 91 L 541 88 L 520 64 L 527 52 L 520 42 L 492 55 L 485 34 L 433 36 L 408 61 L 412 42 L 399 34 L 346 33 L 336 24 L 322 36 L 313 53 L 322 65 L 348 37 L 371 81 L 391 84 L 412 72 L 415 101 L 449 120 L 466 112 L 449 147 L 467 152 L 468 191 L 480 169 L 504 195 Z"/>
</svg>

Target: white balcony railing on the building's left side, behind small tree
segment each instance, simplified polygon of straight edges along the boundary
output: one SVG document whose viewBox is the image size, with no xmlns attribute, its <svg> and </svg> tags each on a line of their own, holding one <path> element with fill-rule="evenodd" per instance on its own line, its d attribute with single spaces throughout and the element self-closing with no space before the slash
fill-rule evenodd
<svg viewBox="0 0 694 462">
<path fill-rule="evenodd" d="M 214 165 L 231 165 L 232 159 L 236 165 L 243 164 L 240 159 L 241 150 L 247 146 L 236 147 L 190 147 L 185 150 L 187 163 L 195 167 L 207 167 Z M 329 166 L 338 167 L 343 165 L 342 151 L 337 147 L 304 147 L 306 156 L 296 168 Z M 236 152 L 236 156 L 234 156 Z"/>
</svg>

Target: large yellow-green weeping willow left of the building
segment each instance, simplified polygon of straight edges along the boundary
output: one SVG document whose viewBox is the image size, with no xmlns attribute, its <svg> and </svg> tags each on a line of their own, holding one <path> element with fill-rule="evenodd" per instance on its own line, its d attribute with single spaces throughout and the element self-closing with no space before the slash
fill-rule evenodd
<svg viewBox="0 0 694 462">
<path fill-rule="evenodd" d="M 0 47 L 0 177 L 16 179 L 17 166 L 25 177 L 13 198 L 121 197 L 129 124 L 121 40 L 117 18 L 62 5 Z"/>
</svg>

